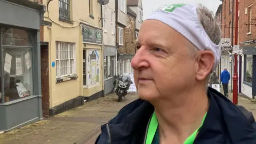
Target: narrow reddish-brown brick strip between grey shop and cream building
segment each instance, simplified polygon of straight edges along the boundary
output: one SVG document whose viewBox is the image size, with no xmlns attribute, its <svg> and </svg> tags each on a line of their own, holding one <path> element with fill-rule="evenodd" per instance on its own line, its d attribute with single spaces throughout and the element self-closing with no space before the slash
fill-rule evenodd
<svg viewBox="0 0 256 144">
<path fill-rule="evenodd" d="M 42 107 L 43 116 L 49 116 L 50 91 L 49 91 L 49 49 L 48 46 L 41 45 L 41 84 L 42 84 Z"/>
</svg>

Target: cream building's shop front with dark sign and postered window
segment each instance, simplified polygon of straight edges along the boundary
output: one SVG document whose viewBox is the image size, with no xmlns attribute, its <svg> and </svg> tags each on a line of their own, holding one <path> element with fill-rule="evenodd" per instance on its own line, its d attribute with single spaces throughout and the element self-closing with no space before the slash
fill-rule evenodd
<svg viewBox="0 0 256 144">
<path fill-rule="evenodd" d="M 83 93 L 85 100 L 103 96 L 102 30 L 82 25 L 83 35 Z"/>
</svg>

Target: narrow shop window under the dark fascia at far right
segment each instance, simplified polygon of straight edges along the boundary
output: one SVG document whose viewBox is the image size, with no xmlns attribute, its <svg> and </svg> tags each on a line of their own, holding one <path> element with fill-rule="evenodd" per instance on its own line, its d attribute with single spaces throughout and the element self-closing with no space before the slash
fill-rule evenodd
<svg viewBox="0 0 256 144">
<path fill-rule="evenodd" d="M 252 84 L 252 55 L 245 55 L 245 78 L 244 81 Z"/>
</svg>

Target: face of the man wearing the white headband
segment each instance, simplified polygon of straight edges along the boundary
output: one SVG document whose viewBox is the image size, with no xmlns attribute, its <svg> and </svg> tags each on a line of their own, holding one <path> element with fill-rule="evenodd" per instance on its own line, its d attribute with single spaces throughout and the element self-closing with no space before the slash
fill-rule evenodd
<svg viewBox="0 0 256 144">
<path fill-rule="evenodd" d="M 134 81 L 141 99 L 178 97 L 196 82 L 196 57 L 188 40 L 156 20 L 143 22 L 132 59 Z"/>
</svg>

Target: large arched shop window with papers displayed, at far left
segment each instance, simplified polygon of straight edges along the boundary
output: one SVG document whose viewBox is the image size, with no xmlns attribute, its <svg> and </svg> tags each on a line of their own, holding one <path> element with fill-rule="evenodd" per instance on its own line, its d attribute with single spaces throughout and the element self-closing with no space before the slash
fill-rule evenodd
<svg viewBox="0 0 256 144">
<path fill-rule="evenodd" d="M 0 48 L 4 60 L 1 66 L 3 77 L 0 71 L 0 101 L 2 98 L 9 102 L 33 95 L 33 47 L 28 33 L 21 29 L 7 29 Z"/>
</svg>

